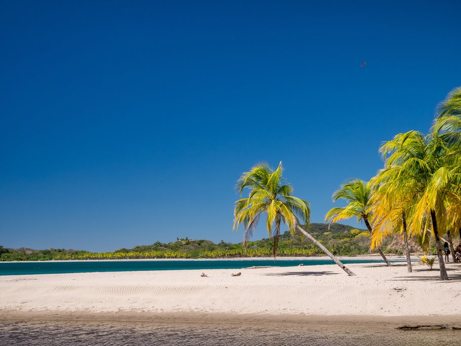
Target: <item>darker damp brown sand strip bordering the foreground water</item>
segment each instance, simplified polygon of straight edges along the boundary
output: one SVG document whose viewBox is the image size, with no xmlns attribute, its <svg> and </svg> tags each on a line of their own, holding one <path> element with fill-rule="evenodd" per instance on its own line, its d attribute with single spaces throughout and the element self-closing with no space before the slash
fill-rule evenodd
<svg viewBox="0 0 461 346">
<path fill-rule="evenodd" d="M 0 310 L 0 321 L 29 322 L 109 322 L 159 324 L 227 324 L 227 325 L 291 325 L 319 327 L 354 327 L 396 329 L 403 326 L 425 326 L 420 329 L 461 329 L 458 315 L 433 316 L 374 316 L 374 315 L 276 315 L 236 313 L 90 313 L 61 311 L 18 313 Z M 440 328 L 443 325 L 445 328 Z M 417 329 L 417 328 L 415 328 Z"/>
</svg>

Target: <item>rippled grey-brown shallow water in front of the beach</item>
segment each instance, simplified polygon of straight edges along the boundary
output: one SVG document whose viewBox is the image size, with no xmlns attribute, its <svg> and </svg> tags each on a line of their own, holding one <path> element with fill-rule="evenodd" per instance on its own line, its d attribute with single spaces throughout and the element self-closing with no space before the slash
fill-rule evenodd
<svg viewBox="0 0 461 346">
<path fill-rule="evenodd" d="M 294 325 L 2 321 L 2 345 L 440 345 L 461 330 L 398 330 Z"/>
</svg>

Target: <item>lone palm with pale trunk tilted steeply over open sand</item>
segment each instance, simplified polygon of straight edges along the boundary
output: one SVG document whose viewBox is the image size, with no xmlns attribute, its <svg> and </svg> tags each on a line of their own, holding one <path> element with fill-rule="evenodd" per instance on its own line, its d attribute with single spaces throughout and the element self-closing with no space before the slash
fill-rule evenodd
<svg viewBox="0 0 461 346">
<path fill-rule="evenodd" d="M 322 249 L 344 272 L 354 276 L 355 274 L 347 266 L 301 227 L 301 223 L 309 224 L 311 217 L 309 203 L 292 196 L 293 187 L 285 181 L 282 173 L 282 162 L 276 170 L 266 163 L 260 163 L 251 168 L 249 172 L 243 173 L 237 181 L 240 195 L 243 194 L 245 188 L 250 189 L 248 198 L 238 200 L 234 209 L 234 229 L 236 227 L 238 229 L 240 224 L 245 227 L 244 245 L 246 246 L 248 239 L 253 235 L 261 215 L 266 214 L 267 233 L 269 237 L 274 236 L 274 259 L 279 244 L 280 227 L 284 223 L 292 234 L 297 229 Z"/>
</svg>

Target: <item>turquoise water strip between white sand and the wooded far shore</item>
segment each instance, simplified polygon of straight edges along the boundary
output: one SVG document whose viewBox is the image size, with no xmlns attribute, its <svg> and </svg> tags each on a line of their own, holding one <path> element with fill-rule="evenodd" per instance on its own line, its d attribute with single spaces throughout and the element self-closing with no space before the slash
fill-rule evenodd
<svg viewBox="0 0 461 346">
<path fill-rule="evenodd" d="M 381 260 L 346 259 L 343 263 L 379 263 Z M 171 270 L 240 269 L 251 266 L 297 266 L 334 264 L 329 259 L 239 259 L 239 260 L 142 260 L 142 261 L 51 261 L 0 262 L 0 275 L 64 274 L 92 272 L 138 272 Z"/>
</svg>

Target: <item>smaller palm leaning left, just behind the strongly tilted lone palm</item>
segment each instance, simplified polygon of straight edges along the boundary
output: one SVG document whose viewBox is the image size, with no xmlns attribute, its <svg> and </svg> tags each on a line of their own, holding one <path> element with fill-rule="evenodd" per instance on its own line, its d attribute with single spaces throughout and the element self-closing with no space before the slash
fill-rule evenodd
<svg viewBox="0 0 461 346">
<path fill-rule="evenodd" d="M 348 205 L 345 207 L 331 208 L 325 215 L 325 221 L 329 222 L 331 225 L 339 220 L 357 217 L 357 222 L 363 221 L 371 236 L 373 234 L 373 229 L 371 228 L 369 221 L 371 217 L 370 197 L 371 184 L 369 182 L 354 179 L 342 184 L 341 187 L 333 194 L 333 202 L 342 199 L 347 201 Z M 386 265 L 391 266 L 391 263 L 382 253 L 381 249 L 377 248 L 377 251 L 386 262 Z"/>
</svg>

